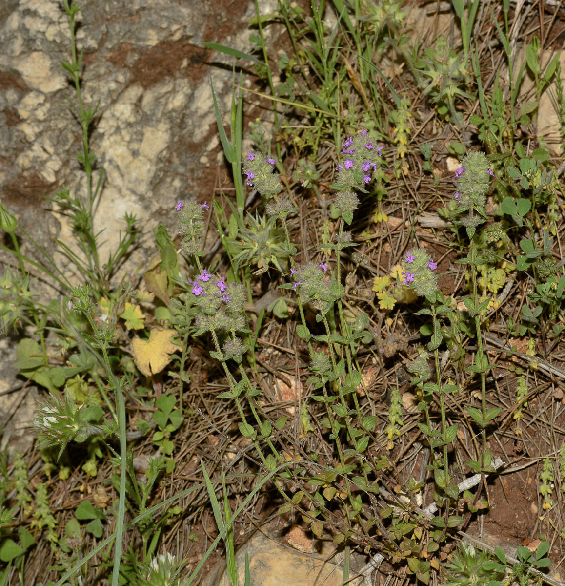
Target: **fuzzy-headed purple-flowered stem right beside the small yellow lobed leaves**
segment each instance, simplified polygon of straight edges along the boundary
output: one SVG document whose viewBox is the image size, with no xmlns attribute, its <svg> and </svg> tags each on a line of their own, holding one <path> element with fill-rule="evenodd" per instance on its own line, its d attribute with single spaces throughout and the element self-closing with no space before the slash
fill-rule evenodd
<svg viewBox="0 0 565 586">
<path fill-rule="evenodd" d="M 435 367 L 435 382 L 424 382 L 427 378 L 429 369 L 427 369 L 427 360 L 425 355 L 420 355 L 409 366 L 409 370 L 417 376 L 413 381 L 419 385 L 423 393 L 423 400 L 419 404 L 419 409 L 424 411 L 426 423 L 419 423 L 420 431 L 429 439 L 430 447 L 435 452 L 441 450 L 441 455 L 433 456 L 433 472 L 436 486 L 443 490 L 446 495 L 445 517 L 436 517 L 434 524 L 439 527 L 454 527 L 463 522 L 463 517 L 449 517 L 449 499 L 457 501 L 459 489 L 456 483 L 452 483 L 449 473 L 447 459 L 447 447 L 453 442 L 457 435 L 457 424 L 447 425 L 445 395 L 454 393 L 458 387 L 454 384 L 443 384 L 441 381 L 441 369 L 439 358 L 439 347 L 443 340 L 440 330 L 438 316 L 449 314 L 451 308 L 444 302 L 443 295 L 437 286 L 437 263 L 432 259 L 429 253 L 423 248 L 412 248 L 406 253 L 402 261 L 402 282 L 404 285 L 412 288 L 419 297 L 425 297 L 429 308 L 420 309 L 415 315 L 428 315 L 432 318 L 433 333 L 432 339 L 428 342 L 428 350 L 433 352 Z M 430 403 L 432 397 L 436 394 L 439 397 L 441 424 L 439 430 L 433 428 L 430 417 Z"/>
</svg>

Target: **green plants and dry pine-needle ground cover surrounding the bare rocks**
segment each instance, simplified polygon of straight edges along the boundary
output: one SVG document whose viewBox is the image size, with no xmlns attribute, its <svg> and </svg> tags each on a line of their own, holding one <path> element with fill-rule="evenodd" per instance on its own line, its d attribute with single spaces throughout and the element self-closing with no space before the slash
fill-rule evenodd
<svg viewBox="0 0 565 586">
<path fill-rule="evenodd" d="M 2 328 L 26 326 L 16 367 L 44 390 L 35 448 L 0 462 L 0 584 L 190 584 L 222 553 L 235 583 L 234 548 L 272 519 L 399 583 L 555 582 L 563 11 L 453 0 L 446 38 L 409 8 L 281 0 L 257 6 L 253 53 L 208 47 L 234 59 L 227 127 L 210 88 L 232 189 L 177 200 L 135 277 L 135 217 L 98 254 L 72 36 L 86 188 L 52 202 L 83 284 L 23 256 L 0 205 Z M 30 265 L 63 298 L 40 302 Z"/>
</svg>

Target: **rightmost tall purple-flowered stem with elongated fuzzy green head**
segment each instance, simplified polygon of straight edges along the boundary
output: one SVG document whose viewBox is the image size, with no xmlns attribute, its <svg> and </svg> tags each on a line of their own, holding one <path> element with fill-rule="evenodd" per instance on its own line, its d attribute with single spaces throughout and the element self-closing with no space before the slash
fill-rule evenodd
<svg viewBox="0 0 565 586">
<path fill-rule="evenodd" d="M 475 364 L 467 367 L 470 373 L 480 373 L 481 377 L 481 410 L 475 407 L 468 409 L 469 415 L 482 428 L 482 451 L 478 461 L 470 461 L 467 464 L 477 472 L 493 472 L 491 464 L 491 453 L 487 448 L 486 428 L 501 411 L 501 407 L 491 408 L 487 411 L 487 371 L 494 366 L 489 364 L 487 356 L 483 351 L 482 330 L 481 330 L 481 312 L 488 308 L 491 298 L 479 302 L 477 289 L 477 272 L 478 265 L 484 263 L 484 260 L 478 257 L 477 244 L 475 243 L 477 226 L 485 222 L 485 205 L 487 203 L 487 191 L 490 185 L 490 176 L 494 175 L 491 171 L 490 163 L 487 156 L 482 152 L 473 152 L 465 156 L 461 162 L 460 168 L 453 178 L 457 191 L 454 197 L 457 200 L 457 213 L 466 212 L 458 224 L 465 226 L 467 236 L 470 240 L 469 253 L 466 258 L 461 259 L 461 263 L 469 265 L 471 274 L 471 297 L 464 297 L 463 301 L 474 318 L 475 332 L 477 335 L 477 356 Z"/>
</svg>

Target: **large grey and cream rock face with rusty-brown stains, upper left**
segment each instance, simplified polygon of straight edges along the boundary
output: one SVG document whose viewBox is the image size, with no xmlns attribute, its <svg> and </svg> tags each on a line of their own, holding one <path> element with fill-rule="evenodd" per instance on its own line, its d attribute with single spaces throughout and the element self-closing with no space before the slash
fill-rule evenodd
<svg viewBox="0 0 565 586">
<path fill-rule="evenodd" d="M 61 68 L 61 62 L 71 60 L 70 29 L 62 4 L 57 0 L 0 3 L 0 198 L 47 255 L 70 271 L 63 255 L 56 253 L 53 239 L 70 245 L 71 227 L 57 206 L 43 199 L 62 188 L 73 197 L 85 195 L 85 175 L 76 160 L 81 130 L 67 101 L 76 100 L 76 94 Z M 105 262 L 126 226 L 124 214 L 133 213 L 143 236 L 124 270 L 135 271 L 155 253 L 157 224 L 165 223 L 173 233 L 173 206 L 178 199 L 194 196 L 210 202 L 214 188 L 230 185 L 228 175 L 218 173 L 223 158 L 210 76 L 227 124 L 235 59 L 206 49 L 203 43 L 249 52 L 247 22 L 255 15 L 255 6 L 252 0 L 78 4 L 83 99 L 86 107 L 100 100 L 91 133 L 91 150 L 98 158 L 94 183 L 102 166 L 106 172 L 94 218 L 95 230 L 104 230 L 100 257 Z M 276 0 L 259 0 L 262 13 L 275 6 Z M 222 63 L 225 67 L 218 67 Z M 20 246 L 23 254 L 40 258 L 25 237 Z M 4 251 L 0 263 L 15 265 Z M 74 284 L 81 282 L 70 272 L 69 278 Z M 48 290 L 45 294 L 55 295 Z M 0 347 L 4 363 L 13 362 L 14 343 Z M 0 393 L 15 382 L 12 372 L 3 371 Z M 0 394 L 0 414 L 13 407 L 14 399 Z M 31 434 L 21 430 L 28 418 L 12 420 L 19 421 L 20 431 L 6 428 L 2 445 L 9 441 L 25 448 Z"/>
</svg>

